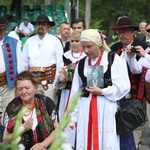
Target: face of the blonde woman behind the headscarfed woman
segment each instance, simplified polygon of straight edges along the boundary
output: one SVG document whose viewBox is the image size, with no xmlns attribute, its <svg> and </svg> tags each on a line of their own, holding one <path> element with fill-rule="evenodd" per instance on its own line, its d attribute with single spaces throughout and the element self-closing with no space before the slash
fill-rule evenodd
<svg viewBox="0 0 150 150">
<path fill-rule="evenodd" d="M 78 53 L 82 50 L 80 39 L 70 39 L 71 50 L 75 53 Z"/>
</svg>

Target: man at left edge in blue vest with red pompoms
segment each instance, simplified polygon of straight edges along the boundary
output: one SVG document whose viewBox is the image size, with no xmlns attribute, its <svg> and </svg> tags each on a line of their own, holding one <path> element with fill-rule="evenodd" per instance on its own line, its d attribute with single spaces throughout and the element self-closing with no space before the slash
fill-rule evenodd
<svg viewBox="0 0 150 150">
<path fill-rule="evenodd" d="M 0 18 L 0 113 L 15 97 L 14 81 L 23 71 L 21 44 L 6 35 L 8 24 Z"/>
</svg>

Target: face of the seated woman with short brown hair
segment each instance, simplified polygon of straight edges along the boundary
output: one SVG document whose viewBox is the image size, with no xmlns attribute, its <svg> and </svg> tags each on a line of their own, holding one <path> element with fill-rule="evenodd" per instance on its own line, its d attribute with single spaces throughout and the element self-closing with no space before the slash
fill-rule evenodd
<svg viewBox="0 0 150 150">
<path fill-rule="evenodd" d="M 24 103 L 31 103 L 34 101 L 34 95 L 37 86 L 33 85 L 30 80 L 18 80 L 16 84 L 17 96 L 19 96 Z"/>
</svg>

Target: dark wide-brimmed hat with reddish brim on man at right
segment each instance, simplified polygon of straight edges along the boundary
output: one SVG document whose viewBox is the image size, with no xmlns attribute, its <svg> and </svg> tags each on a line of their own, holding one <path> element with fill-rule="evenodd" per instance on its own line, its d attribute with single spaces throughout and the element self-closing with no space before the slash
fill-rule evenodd
<svg viewBox="0 0 150 150">
<path fill-rule="evenodd" d="M 116 26 L 112 26 L 111 30 L 125 29 L 125 28 L 134 28 L 134 30 L 138 30 L 139 26 L 132 24 L 132 21 L 129 17 L 122 17 L 119 19 L 118 24 Z"/>
</svg>

